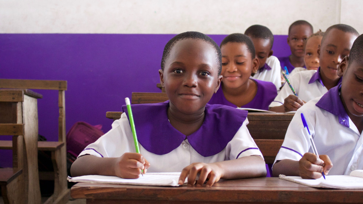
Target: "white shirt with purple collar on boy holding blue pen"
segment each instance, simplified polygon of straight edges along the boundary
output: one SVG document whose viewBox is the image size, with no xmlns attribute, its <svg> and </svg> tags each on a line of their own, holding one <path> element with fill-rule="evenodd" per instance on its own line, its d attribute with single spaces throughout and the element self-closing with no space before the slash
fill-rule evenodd
<svg viewBox="0 0 363 204">
<path fill-rule="evenodd" d="M 329 175 L 349 175 L 353 170 L 363 169 L 363 137 L 348 117 L 339 94 L 338 85 L 297 110 L 274 163 L 282 159 L 300 160 L 306 152 L 313 152 L 303 130 L 303 113 L 318 154 L 328 155 L 333 163 Z"/>
</svg>

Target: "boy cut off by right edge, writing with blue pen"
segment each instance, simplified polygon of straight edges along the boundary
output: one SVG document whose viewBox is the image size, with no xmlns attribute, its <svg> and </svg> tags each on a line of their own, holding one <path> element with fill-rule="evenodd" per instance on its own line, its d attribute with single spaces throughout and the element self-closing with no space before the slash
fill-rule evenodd
<svg viewBox="0 0 363 204">
<path fill-rule="evenodd" d="M 325 175 L 349 175 L 363 169 L 363 35 L 338 67 L 342 82 L 322 97 L 299 109 L 287 128 L 276 156 L 273 175 L 318 179 Z M 303 131 L 305 115 L 319 157 L 314 155 Z M 334 165 L 334 166 L 333 166 Z"/>
</svg>

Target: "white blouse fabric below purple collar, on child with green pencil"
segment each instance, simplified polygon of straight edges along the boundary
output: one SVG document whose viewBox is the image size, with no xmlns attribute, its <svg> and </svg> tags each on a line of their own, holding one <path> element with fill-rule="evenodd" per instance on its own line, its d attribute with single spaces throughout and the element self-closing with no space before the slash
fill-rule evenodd
<svg viewBox="0 0 363 204">
<path fill-rule="evenodd" d="M 189 144 L 188 139 L 184 140 L 179 147 L 163 155 L 151 153 L 139 143 L 140 154 L 151 164 L 147 172 L 181 172 L 184 167 L 194 162 L 213 163 L 251 155 L 260 155 L 263 158 L 249 134 L 247 124 L 248 119 L 246 118 L 227 146 L 212 156 L 200 155 Z M 205 145 L 208 145 L 208 141 L 205 141 Z M 119 120 L 113 122 L 109 132 L 101 136 L 96 142 L 89 144 L 79 156 L 90 154 L 98 157 L 119 157 L 125 152 L 136 151 L 129 120 L 123 113 Z"/>
</svg>

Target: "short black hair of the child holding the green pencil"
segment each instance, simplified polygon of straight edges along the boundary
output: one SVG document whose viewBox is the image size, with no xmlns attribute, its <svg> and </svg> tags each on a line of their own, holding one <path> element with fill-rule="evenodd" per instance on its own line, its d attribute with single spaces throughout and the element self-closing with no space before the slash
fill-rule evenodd
<svg viewBox="0 0 363 204">
<path fill-rule="evenodd" d="M 210 38 L 206 34 L 203 34 L 200 32 L 195 32 L 195 31 L 188 31 L 188 32 L 180 33 L 180 34 L 174 36 L 173 38 L 171 38 L 171 40 L 169 40 L 169 42 L 164 47 L 163 57 L 161 60 L 161 69 L 162 70 L 164 70 L 165 62 L 170 55 L 170 50 L 172 49 L 172 47 L 175 45 L 176 42 L 178 42 L 179 40 L 184 40 L 184 39 L 200 39 L 200 40 L 204 40 L 205 42 L 208 42 L 209 44 L 213 45 L 213 47 L 216 51 L 216 56 L 217 56 L 216 60 L 217 60 L 217 65 L 218 65 L 218 75 L 221 74 L 221 72 L 222 72 L 221 49 L 219 48 L 217 43 L 212 38 Z"/>
</svg>

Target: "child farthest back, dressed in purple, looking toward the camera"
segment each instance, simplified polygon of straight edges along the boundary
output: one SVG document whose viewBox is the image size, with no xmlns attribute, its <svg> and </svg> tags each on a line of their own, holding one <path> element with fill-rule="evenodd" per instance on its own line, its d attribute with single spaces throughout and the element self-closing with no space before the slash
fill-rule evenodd
<svg viewBox="0 0 363 204">
<path fill-rule="evenodd" d="M 305 67 L 304 42 L 311 34 L 313 26 L 307 21 L 298 20 L 290 25 L 287 44 L 290 46 L 291 54 L 287 57 L 278 57 L 282 69 L 286 66 L 290 73 L 295 67 Z"/>
</svg>

